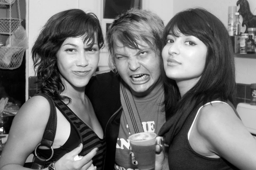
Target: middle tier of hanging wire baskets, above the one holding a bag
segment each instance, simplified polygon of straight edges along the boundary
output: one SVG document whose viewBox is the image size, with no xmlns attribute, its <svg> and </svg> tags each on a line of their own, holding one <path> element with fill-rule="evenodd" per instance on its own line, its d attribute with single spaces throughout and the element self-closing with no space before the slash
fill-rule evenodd
<svg viewBox="0 0 256 170">
<path fill-rule="evenodd" d="M 21 25 L 21 21 L 18 18 L 0 18 L 0 34 L 12 34 Z"/>
</svg>

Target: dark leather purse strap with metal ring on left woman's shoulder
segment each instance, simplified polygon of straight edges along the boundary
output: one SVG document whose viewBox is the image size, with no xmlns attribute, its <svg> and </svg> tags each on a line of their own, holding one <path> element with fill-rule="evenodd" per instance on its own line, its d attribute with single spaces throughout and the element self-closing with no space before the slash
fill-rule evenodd
<svg viewBox="0 0 256 170">
<path fill-rule="evenodd" d="M 37 96 L 37 95 L 41 95 L 48 100 L 48 102 L 50 103 L 51 110 L 50 110 L 50 116 L 49 116 L 47 125 L 46 125 L 44 133 L 43 133 L 43 138 L 34 150 L 35 159 L 33 162 L 24 164 L 24 167 L 30 168 L 30 169 L 43 169 L 45 167 L 48 167 L 49 164 L 51 163 L 50 160 L 52 159 L 53 153 L 54 153 L 52 144 L 53 144 L 53 141 L 55 138 L 56 128 L 57 128 L 57 112 L 56 112 L 56 107 L 55 107 L 54 101 L 51 99 L 51 97 L 49 95 L 47 95 L 45 93 L 37 93 L 34 96 Z M 48 159 L 41 157 L 37 153 L 37 148 L 39 146 L 46 146 L 47 148 L 51 149 L 52 150 L 51 157 Z"/>
</svg>

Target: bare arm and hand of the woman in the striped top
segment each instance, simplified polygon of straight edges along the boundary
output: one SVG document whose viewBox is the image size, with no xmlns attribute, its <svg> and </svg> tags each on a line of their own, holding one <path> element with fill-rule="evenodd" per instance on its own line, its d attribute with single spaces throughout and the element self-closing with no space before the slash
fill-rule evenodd
<svg viewBox="0 0 256 170">
<path fill-rule="evenodd" d="M 29 99 L 19 110 L 11 125 L 6 146 L 0 157 L 0 170 L 26 170 L 23 165 L 27 157 L 41 142 L 44 129 L 50 115 L 50 104 L 42 96 Z M 95 170 L 92 158 L 97 153 L 93 149 L 81 160 L 75 161 L 74 157 L 81 152 L 83 146 L 65 154 L 56 162 L 57 170 Z M 48 170 L 48 168 L 44 168 Z"/>
</svg>

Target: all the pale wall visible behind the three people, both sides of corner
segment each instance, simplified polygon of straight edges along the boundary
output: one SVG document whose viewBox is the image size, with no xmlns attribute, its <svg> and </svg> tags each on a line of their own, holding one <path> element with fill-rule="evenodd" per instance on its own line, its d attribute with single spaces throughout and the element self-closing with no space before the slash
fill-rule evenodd
<svg viewBox="0 0 256 170">
<path fill-rule="evenodd" d="M 26 31 L 29 40 L 26 60 L 26 100 L 28 99 L 28 77 L 35 76 L 31 60 L 31 48 L 44 23 L 55 13 L 69 9 L 80 8 L 94 12 L 100 19 L 103 0 L 26 0 Z M 236 6 L 237 0 L 144 0 L 143 8 L 157 13 L 166 24 L 177 12 L 191 8 L 204 7 L 217 16 L 227 27 L 228 7 Z M 256 0 L 248 0 L 250 10 L 256 15 Z M 239 7 L 237 7 L 239 9 Z M 256 83 L 256 59 L 235 58 L 236 82 Z M 108 69 L 108 53 L 100 54 L 100 70 Z"/>
</svg>

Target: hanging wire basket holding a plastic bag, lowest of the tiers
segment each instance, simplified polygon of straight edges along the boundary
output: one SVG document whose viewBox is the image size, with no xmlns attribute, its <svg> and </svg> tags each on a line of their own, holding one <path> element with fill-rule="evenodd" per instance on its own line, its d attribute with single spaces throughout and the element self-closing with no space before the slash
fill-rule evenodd
<svg viewBox="0 0 256 170">
<path fill-rule="evenodd" d="M 0 69 L 13 70 L 20 67 L 25 50 L 23 47 L 1 47 Z"/>
</svg>

